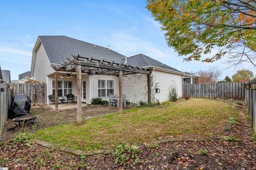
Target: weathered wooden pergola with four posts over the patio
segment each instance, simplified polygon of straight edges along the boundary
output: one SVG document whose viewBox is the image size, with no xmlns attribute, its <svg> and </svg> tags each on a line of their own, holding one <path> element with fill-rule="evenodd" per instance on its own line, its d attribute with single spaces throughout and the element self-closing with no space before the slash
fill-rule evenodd
<svg viewBox="0 0 256 170">
<path fill-rule="evenodd" d="M 77 122 L 82 123 L 82 73 L 115 75 L 119 77 L 119 112 L 123 112 L 122 77 L 129 74 L 147 74 L 148 103 L 151 101 L 150 74 L 152 69 L 130 64 L 97 60 L 92 57 L 71 55 L 66 61 L 52 65 L 55 70 L 55 109 L 58 110 L 58 72 L 75 72 L 77 75 Z"/>
</svg>

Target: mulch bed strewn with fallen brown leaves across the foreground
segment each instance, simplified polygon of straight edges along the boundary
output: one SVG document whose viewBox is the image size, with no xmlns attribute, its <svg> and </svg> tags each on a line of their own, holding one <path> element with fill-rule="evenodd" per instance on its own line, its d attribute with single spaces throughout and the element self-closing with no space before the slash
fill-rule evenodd
<svg viewBox="0 0 256 170">
<path fill-rule="evenodd" d="M 231 135 L 239 141 L 169 142 L 158 147 L 143 147 L 141 163 L 135 169 L 256 169 L 256 143 L 251 123 L 240 111 L 239 123 Z M 122 169 L 111 155 L 81 158 L 33 142 L 0 144 L 0 167 L 9 169 Z M 199 154 L 199 150 L 208 154 Z"/>
</svg>

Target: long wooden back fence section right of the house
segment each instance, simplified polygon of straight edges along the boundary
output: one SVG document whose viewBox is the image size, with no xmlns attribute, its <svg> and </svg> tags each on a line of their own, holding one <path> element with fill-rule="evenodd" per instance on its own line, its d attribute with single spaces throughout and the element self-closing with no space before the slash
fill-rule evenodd
<svg viewBox="0 0 256 170">
<path fill-rule="evenodd" d="M 194 98 L 244 98 L 243 83 L 183 84 L 183 96 Z"/>
</svg>

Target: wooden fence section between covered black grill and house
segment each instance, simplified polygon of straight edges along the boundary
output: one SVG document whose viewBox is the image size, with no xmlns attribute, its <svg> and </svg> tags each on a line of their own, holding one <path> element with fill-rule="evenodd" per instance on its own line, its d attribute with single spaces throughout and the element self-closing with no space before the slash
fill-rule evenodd
<svg viewBox="0 0 256 170">
<path fill-rule="evenodd" d="M 46 83 L 13 84 L 13 95 L 23 94 L 31 99 L 31 105 L 47 105 Z"/>
</svg>

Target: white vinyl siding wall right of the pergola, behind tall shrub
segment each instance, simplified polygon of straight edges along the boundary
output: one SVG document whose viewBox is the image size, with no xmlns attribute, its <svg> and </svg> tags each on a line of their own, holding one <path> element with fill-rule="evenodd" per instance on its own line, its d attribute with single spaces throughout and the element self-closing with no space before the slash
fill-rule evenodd
<svg viewBox="0 0 256 170">
<path fill-rule="evenodd" d="M 167 101 L 170 99 L 170 90 L 172 87 L 177 89 L 179 97 L 182 96 L 182 76 L 164 71 L 152 72 L 154 82 L 158 82 L 160 92 L 155 94 L 159 102 Z M 154 83 L 154 86 L 155 86 Z"/>
</svg>

